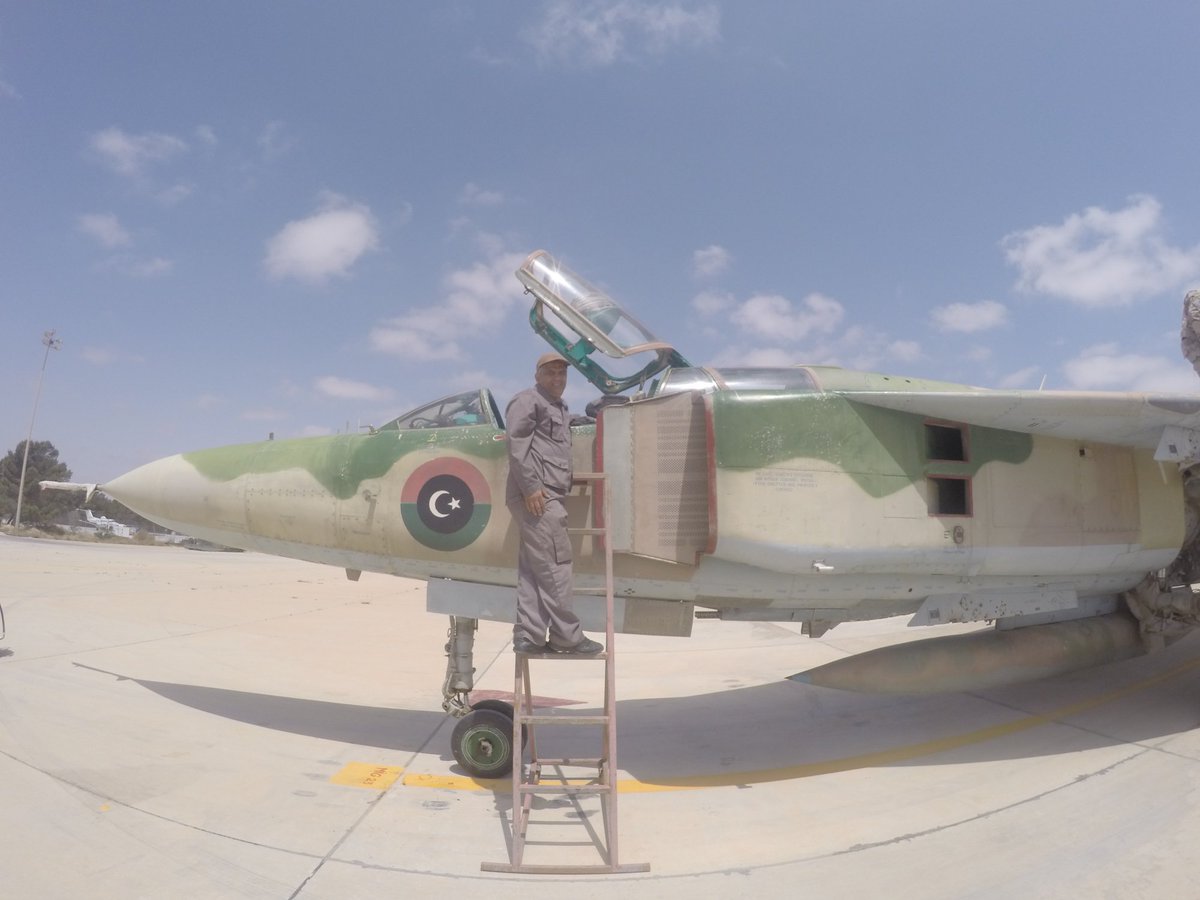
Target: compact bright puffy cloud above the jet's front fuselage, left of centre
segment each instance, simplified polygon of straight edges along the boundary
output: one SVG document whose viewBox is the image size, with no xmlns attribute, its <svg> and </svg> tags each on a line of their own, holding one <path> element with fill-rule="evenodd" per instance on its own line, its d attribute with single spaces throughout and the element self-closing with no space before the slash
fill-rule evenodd
<svg viewBox="0 0 1200 900">
<path fill-rule="evenodd" d="M 272 278 L 320 283 L 335 275 L 348 275 L 364 253 L 378 246 L 371 210 L 325 192 L 317 212 L 288 222 L 266 242 L 263 265 Z"/>
</svg>

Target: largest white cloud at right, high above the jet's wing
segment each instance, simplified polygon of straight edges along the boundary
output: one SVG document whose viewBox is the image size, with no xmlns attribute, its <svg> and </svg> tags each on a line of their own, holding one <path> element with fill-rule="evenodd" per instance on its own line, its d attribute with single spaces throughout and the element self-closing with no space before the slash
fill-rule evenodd
<svg viewBox="0 0 1200 900">
<path fill-rule="evenodd" d="M 1162 205 L 1145 194 L 1115 212 L 1090 206 L 1062 224 L 1014 232 L 1002 246 L 1019 289 L 1080 306 L 1124 306 L 1200 276 L 1200 245 L 1169 245 Z"/>
</svg>

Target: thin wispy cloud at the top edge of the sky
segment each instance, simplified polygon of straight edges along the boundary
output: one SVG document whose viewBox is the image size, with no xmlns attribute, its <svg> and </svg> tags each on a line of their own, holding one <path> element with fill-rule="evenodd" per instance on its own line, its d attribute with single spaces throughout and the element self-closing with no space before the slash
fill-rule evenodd
<svg viewBox="0 0 1200 900">
<path fill-rule="evenodd" d="M 554 0 L 523 37 L 542 61 L 608 66 L 674 47 L 703 47 L 720 38 L 715 4 L 644 0 Z"/>
</svg>

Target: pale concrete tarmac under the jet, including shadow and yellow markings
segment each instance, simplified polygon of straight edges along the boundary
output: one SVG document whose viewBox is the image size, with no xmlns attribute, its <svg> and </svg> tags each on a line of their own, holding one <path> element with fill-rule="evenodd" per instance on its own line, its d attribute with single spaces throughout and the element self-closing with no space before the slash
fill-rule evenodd
<svg viewBox="0 0 1200 900">
<path fill-rule="evenodd" d="M 619 856 L 650 870 L 529 876 L 480 870 L 509 859 L 509 786 L 454 762 L 420 582 L 0 535 L 0 604 L 10 898 L 1198 895 L 1193 638 L 896 697 L 784 678 L 944 629 L 618 636 Z M 481 623 L 475 659 L 476 697 L 511 692 L 506 626 Z M 599 706 L 602 664 L 533 665 L 542 703 Z M 598 800 L 540 800 L 526 859 L 599 862 L 598 834 Z"/>
</svg>

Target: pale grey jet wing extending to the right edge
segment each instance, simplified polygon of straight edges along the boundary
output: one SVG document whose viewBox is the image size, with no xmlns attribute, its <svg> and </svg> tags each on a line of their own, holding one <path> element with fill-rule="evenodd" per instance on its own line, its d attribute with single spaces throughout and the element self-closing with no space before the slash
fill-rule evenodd
<svg viewBox="0 0 1200 900">
<path fill-rule="evenodd" d="M 839 394 L 856 403 L 1054 438 L 1159 450 L 1168 440 L 1175 440 L 1200 448 L 1200 394 L 1102 391 L 839 391 Z M 1164 437 L 1168 440 L 1164 440 Z M 1182 454 L 1182 450 L 1176 452 Z"/>
</svg>

